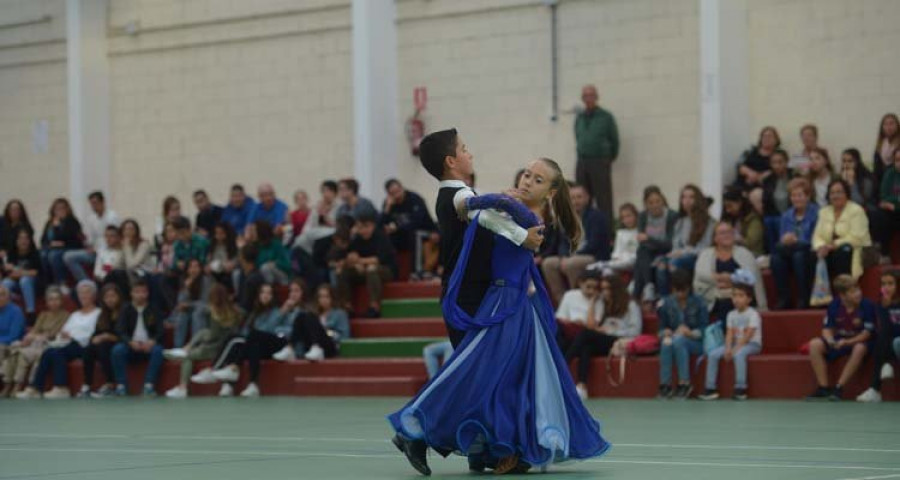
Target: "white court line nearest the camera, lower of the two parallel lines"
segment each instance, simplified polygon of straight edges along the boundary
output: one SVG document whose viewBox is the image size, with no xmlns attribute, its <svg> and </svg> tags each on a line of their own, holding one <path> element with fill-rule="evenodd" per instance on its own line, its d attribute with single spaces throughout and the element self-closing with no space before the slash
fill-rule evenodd
<svg viewBox="0 0 900 480">
<path fill-rule="evenodd" d="M 20 448 L 0 447 L 0 452 L 20 453 L 109 453 L 109 454 L 137 454 L 137 455 L 233 455 L 233 456 L 260 456 L 260 457 L 320 457 L 320 458 L 367 458 L 367 459 L 391 459 L 400 458 L 399 455 L 386 454 L 351 454 L 332 452 L 267 452 L 255 450 L 172 450 L 172 449 L 143 449 L 143 448 Z M 654 460 L 588 460 L 593 464 L 625 464 L 625 465 L 659 465 L 671 467 L 719 467 L 719 468 L 765 468 L 765 469 L 808 469 L 808 470 L 847 470 L 870 472 L 900 472 L 900 467 L 869 467 L 864 465 L 814 465 L 802 463 L 718 463 L 718 462 L 674 462 Z M 900 473 L 886 477 L 900 477 Z"/>
</svg>

